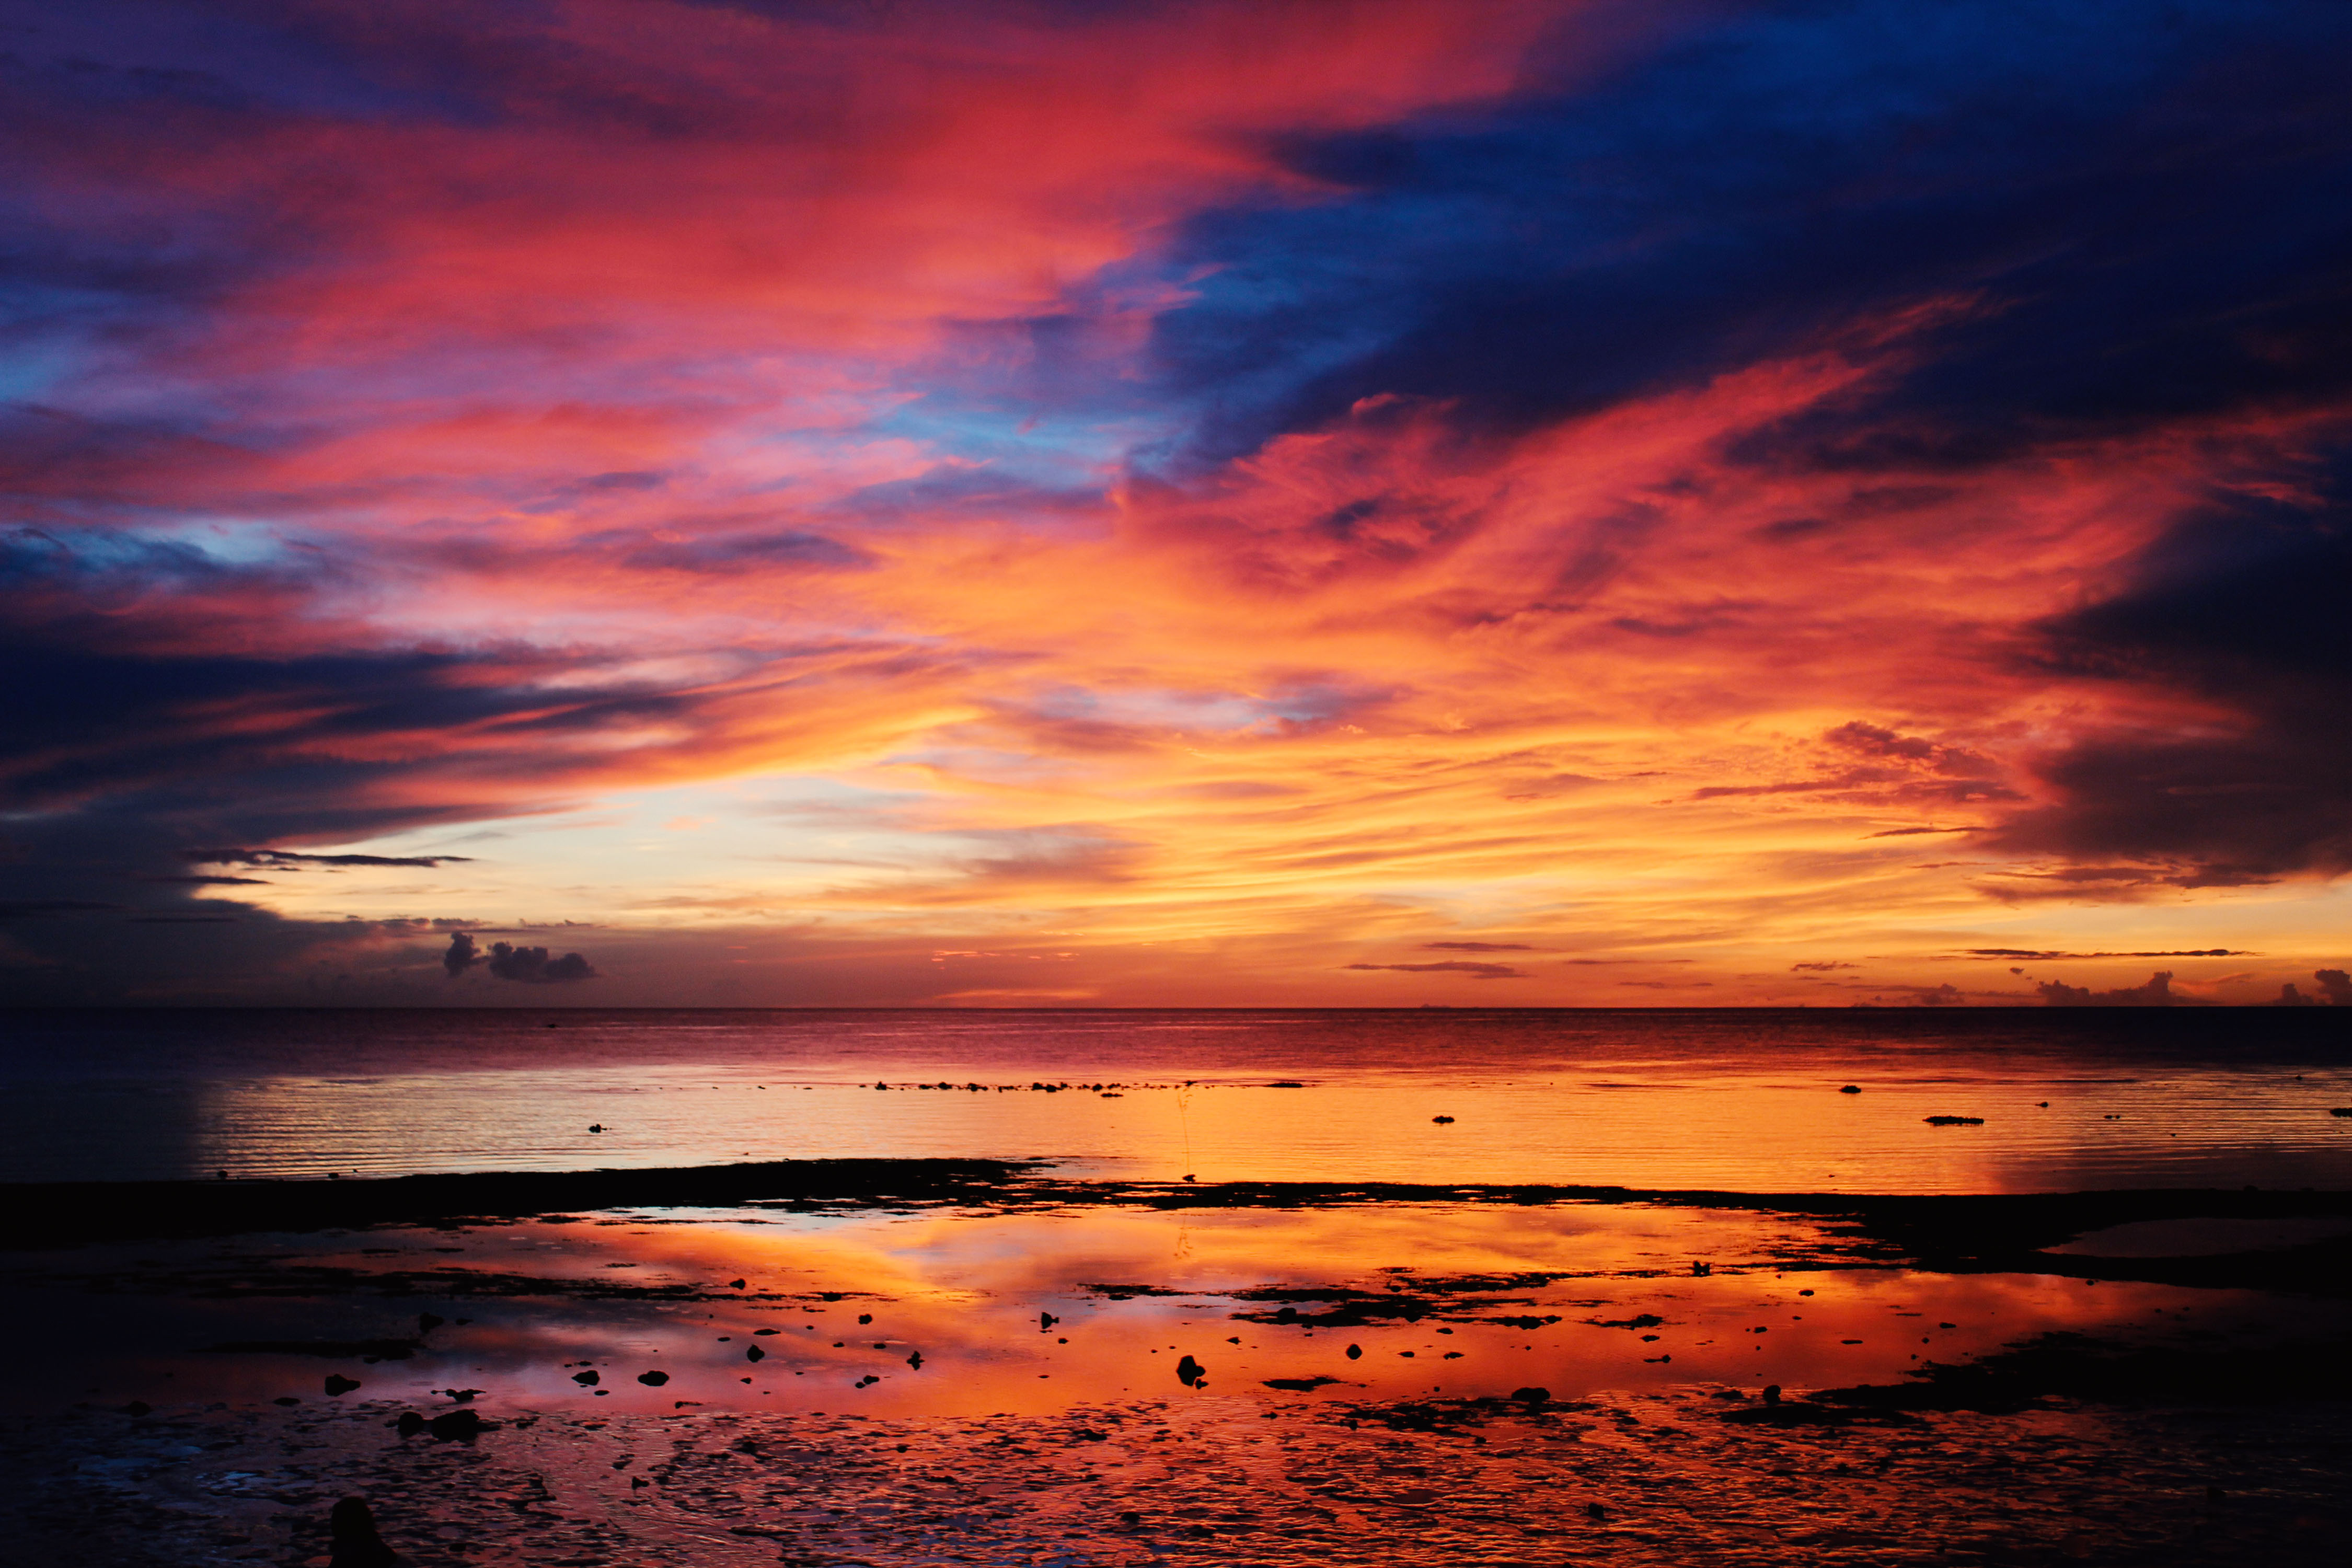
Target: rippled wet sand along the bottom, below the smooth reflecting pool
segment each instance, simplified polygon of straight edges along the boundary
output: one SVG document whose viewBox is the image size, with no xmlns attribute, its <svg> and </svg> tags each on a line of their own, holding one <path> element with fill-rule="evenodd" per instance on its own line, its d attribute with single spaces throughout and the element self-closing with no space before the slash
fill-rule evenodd
<svg viewBox="0 0 2352 1568">
<path fill-rule="evenodd" d="M 75 1413 L 0 1443 L 12 1561 L 325 1568 L 369 1497 L 414 1568 L 691 1563 L 2340 1561 L 2340 1406 L 1743 1422 L 1686 1389 L 1564 1406 L 1214 1399 L 1054 1418 L 400 1408 Z"/>
</svg>

